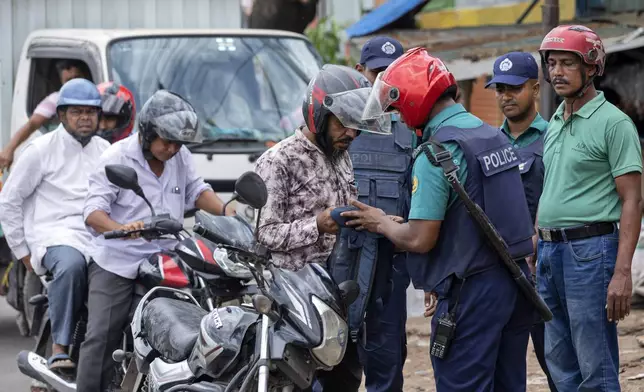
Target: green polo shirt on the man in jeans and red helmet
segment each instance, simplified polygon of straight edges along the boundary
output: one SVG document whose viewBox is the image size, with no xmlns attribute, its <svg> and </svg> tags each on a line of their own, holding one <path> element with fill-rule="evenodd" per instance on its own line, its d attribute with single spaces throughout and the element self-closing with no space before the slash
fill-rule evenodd
<svg viewBox="0 0 644 392">
<path fill-rule="evenodd" d="M 617 222 L 622 212 L 615 177 L 642 172 L 642 153 L 631 119 L 597 96 L 563 119 L 559 105 L 545 137 L 546 168 L 537 215 L 540 227 Z"/>
</svg>

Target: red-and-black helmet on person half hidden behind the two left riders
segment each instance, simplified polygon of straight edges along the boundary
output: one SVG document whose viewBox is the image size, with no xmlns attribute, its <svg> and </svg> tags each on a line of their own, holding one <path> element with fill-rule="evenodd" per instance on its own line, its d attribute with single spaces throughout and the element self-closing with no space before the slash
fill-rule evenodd
<svg viewBox="0 0 644 392">
<path fill-rule="evenodd" d="M 97 87 L 101 94 L 103 115 L 115 116 L 118 119 L 114 129 L 101 129 L 98 135 L 110 143 L 130 136 L 136 117 L 136 104 L 132 92 L 114 82 L 101 83 Z"/>
</svg>

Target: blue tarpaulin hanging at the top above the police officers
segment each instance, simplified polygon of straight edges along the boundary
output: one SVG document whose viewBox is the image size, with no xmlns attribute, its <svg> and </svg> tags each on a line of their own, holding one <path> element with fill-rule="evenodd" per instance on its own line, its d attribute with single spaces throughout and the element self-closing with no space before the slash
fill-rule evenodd
<svg viewBox="0 0 644 392">
<path fill-rule="evenodd" d="M 346 30 L 347 36 L 353 38 L 372 34 L 428 2 L 429 0 L 389 0 L 351 25 Z"/>
</svg>

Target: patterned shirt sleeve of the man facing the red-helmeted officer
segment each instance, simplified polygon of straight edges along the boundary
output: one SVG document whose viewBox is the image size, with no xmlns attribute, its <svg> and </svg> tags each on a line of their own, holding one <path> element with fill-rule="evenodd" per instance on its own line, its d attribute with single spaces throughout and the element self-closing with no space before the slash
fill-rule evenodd
<svg viewBox="0 0 644 392">
<path fill-rule="evenodd" d="M 288 252 L 314 244 L 319 236 L 317 217 L 307 216 L 286 222 L 289 173 L 284 166 L 263 157 L 257 161 L 255 172 L 266 183 L 268 199 L 262 208 L 258 234 L 259 242 L 270 250 Z"/>
</svg>

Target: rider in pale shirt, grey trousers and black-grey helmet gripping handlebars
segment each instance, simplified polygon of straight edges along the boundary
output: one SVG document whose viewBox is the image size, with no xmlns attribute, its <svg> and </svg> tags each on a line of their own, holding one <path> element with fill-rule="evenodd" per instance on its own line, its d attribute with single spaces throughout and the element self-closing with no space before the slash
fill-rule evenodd
<svg viewBox="0 0 644 392">
<path fill-rule="evenodd" d="M 174 239 L 105 239 L 102 234 L 106 231 L 142 229 L 143 220 L 151 213 L 134 192 L 110 183 L 105 166 L 121 164 L 134 169 L 158 214 L 168 213 L 181 221 L 184 212 L 195 207 L 211 214 L 224 213 L 224 203 L 199 177 L 190 150 L 184 146 L 203 140 L 192 105 L 174 93 L 159 90 L 141 108 L 138 122 L 139 132 L 112 144 L 89 176 L 83 216 L 95 237 L 87 268 L 90 306 L 76 377 L 78 392 L 102 392 L 111 387 L 112 353 L 119 348 L 128 321 L 139 266 L 149 256 L 177 245 Z M 227 208 L 228 215 L 235 213 L 232 207 Z"/>
</svg>

